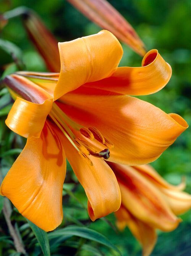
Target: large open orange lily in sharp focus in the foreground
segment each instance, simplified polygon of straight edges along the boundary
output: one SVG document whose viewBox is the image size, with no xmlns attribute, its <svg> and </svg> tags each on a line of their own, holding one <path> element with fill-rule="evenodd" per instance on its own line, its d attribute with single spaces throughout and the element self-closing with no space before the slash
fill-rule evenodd
<svg viewBox="0 0 191 256">
<path fill-rule="evenodd" d="M 45 231 L 62 221 L 65 157 L 94 221 L 121 205 L 117 179 L 104 159 L 151 162 L 188 127 L 180 116 L 125 95 L 150 94 L 167 84 L 172 71 L 157 50 L 146 54 L 142 67 L 118 68 L 123 50 L 109 31 L 58 47 L 60 74 L 23 71 L 2 82 L 16 98 L 6 124 L 28 139 L 0 193 Z"/>
</svg>

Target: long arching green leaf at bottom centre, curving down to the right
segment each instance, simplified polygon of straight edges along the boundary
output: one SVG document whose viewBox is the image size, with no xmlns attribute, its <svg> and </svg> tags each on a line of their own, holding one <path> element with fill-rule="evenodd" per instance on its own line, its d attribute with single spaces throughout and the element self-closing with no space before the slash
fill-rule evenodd
<svg viewBox="0 0 191 256">
<path fill-rule="evenodd" d="M 120 251 L 117 249 L 116 246 L 114 246 L 110 241 L 103 236 L 102 234 L 98 233 L 95 230 L 91 230 L 89 228 L 79 227 L 79 226 L 68 226 L 66 228 L 53 231 L 52 233 L 48 234 L 49 239 L 65 236 L 65 235 L 73 235 L 73 236 L 79 236 L 83 237 L 92 241 L 95 241 L 97 243 L 103 244 L 115 251 L 117 251 L 120 255 Z"/>
</svg>

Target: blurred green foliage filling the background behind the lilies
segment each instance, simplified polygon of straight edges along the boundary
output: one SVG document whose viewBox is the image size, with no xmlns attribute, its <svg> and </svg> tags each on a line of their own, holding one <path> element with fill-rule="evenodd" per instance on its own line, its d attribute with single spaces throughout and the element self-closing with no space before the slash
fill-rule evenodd
<svg viewBox="0 0 191 256">
<path fill-rule="evenodd" d="M 167 113 L 180 114 L 191 126 L 191 1 L 110 0 L 109 2 L 133 25 L 147 49 L 157 48 L 163 58 L 172 66 L 172 78 L 164 89 L 139 98 L 151 102 Z M 58 41 L 73 40 L 101 30 L 65 0 L 0 0 L 0 12 L 3 13 L 22 5 L 35 10 Z M 18 54 L 17 58 L 26 70 L 46 71 L 45 64 L 28 39 L 19 17 L 8 21 L 0 32 L 0 38 L 0 67 L 5 68 L 6 64 L 13 62 L 6 73 L 11 73 L 19 67 L 18 63 L 14 64 L 14 56 L 6 51 L 6 41 L 13 44 L 12 47 Z M 3 47 L 1 47 L 2 45 Z M 122 46 L 124 55 L 120 65 L 140 66 L 141 57 L 128 46 L 124 44 Z M 3 69 L 0 69 L 0 73 L 3 74 Z M 0 157 L 1 170 L 5 175 L 25 142 L 5 126 L 4 122 L 10 110 L 11 98 L 6 89 L 1 91 L 0 96 Z M 186 191 L 191 193 L 190 129 L 187 129 L 152 165 L 168 182 L 173 184 L 178 184 L 181 177 L 185 175 Z M 75 186 L 73 182 L 76 182 Z M 71 192 L 70 195 L 68 192 Z M 94 223 L 89 221 L 87 211 L 84 210 L 86 204 L 87 198 L 84 190 L 81 185 L 77 184 L 77 180 L 68 166 L 63 190 L 64 218 L 61 227 L 69 224 L 89 226 L 92 230 L 108 237 L 124 256 L 141 255 L 139 244 L 127 228 L 124 233 L 119 233 L 113 228 L 115 218 L 112 214 Z M 191 211 L 183 215 L 182 218 L 184 222 L 175 231 L 159 234 L 152 256 L 191 255 Z M 17 223 L 29 255 L 42 255 L 29 224 L 15 208 L 11 220 Z M 0 215 L 0 232 L 2 233 L 0 235 L 0 255 L 7 256 L 15 253 L 2 213 Z M 3 236 L 5 236 L 4 240 L 1 239 Z M 51 255 L 119 255 L 116 251 L 110 250 L 104 245 L 99 244 L 98 246 L 95 241 L 90 242 L 86 238 L 72 237 L 56 240 L 53 238 L 50 240 Z"/>
</svg>

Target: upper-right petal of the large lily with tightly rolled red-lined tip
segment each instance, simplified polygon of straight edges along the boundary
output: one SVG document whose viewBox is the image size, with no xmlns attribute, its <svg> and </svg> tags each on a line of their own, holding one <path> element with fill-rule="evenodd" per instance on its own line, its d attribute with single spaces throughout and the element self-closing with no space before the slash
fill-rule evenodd
<svg viewBox="0 0 191 256">
<path fill-rule="evenodd" d="M 109 78 L 86 86 L 128 95 L 146 95 L 162 89 L 170 80 L 172 69 L 157 50 L 149 51 L 142 67 L 120 67 Z"/>
</svg>

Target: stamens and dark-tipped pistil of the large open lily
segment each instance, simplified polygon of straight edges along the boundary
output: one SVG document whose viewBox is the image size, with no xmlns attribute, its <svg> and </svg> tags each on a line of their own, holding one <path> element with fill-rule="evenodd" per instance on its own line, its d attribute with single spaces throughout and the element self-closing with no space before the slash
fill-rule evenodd
<svg viewBox="0 0 191 256">
<path fill-rule="evenodd" d="M 89 155 L 94 157 L 102 157 L 104 159 L 109 158 L 109 149 L 113 148 L 113 143 L 108 138 L 104 137 L 98 129 L 95 127 L 86 128 L 77 124 L 71 120 L 55 102 L 53 103 L 49 116 L 51 117 L 52 121 L 55 122 L 55 124 L 60 128 L 60 130 L 70 141 L 73 147 L 78 150 L 79 155 L 81 155 L 81 157 L 85 159 L 89 164 L 93 165 L 91 159 L 88 157 Z M 76 137 L 72 130 L 80 132 L 84 137 L 91 141 L 97 140 L 105 146 L 105 149 L 98 153 L 97 150 L 87 141 Z"/>
</svg>

